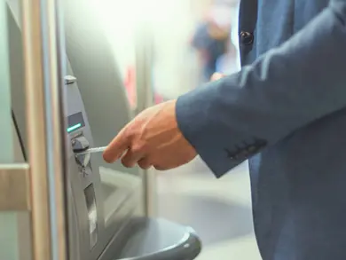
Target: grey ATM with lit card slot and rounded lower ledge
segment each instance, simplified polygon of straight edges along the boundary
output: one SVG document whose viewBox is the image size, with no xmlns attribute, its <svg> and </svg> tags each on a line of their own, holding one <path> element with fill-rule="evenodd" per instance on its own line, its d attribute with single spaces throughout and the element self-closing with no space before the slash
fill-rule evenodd
<svg viewBox="0 0 346 260">
<path fill-rule="evenodd" d="M 75 154 L 106 145 L 131 117 L 112 49 L 90 10 L 82 12 L 77 2 L 66 1 L 64 13 L 70 259 L 194 259 L 201 252 L 201 241 L 192 228 L 145 216 L 145 185 L 139 169 L 107 165 L 101 154 Z M 18 138 L 16 159 L 23 162 L 30 154 L 25 138 L 20 9 L 16 1 L 7 4 L 13 130 Z"/>
</svg>

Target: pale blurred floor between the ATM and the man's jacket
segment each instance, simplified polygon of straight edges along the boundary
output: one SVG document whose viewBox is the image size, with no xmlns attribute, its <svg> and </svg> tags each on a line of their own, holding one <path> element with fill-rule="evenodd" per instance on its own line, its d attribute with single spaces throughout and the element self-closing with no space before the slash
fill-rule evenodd
<svg viewBox="0 0 346 260">
<path fill-rule="evenodd" d="M 195 229 L 203 243 L 197 260 L 261 260 L 247 163 L 216 179 L 197 159 L 161 173 L 158 181 L 159 215 Z"/>
</svg>

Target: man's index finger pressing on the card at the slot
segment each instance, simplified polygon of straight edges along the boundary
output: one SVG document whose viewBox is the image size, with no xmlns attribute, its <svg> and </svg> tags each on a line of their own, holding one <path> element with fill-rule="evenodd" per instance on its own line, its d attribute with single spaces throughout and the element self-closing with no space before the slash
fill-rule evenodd
<svg viewBox="0 0 346 260">
<path fill-rule="evenodd" d="M 130 137 L 126 130 L 121 130 L 119 134 L 110 142 L 103 153 L 103 159 L 108 162 L 115 162 L 130 147 Z"/>
</svg>

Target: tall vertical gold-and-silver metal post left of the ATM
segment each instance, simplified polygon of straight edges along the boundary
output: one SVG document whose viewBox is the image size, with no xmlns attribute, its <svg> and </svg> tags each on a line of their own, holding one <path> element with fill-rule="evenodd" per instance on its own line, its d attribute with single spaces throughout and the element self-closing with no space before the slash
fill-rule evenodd
<svg viewBox="0 0 346 260">
<path fill-rule="evenodd" d="M 22 1 L 33 259 L 67 259 L 65 124 L 55 0 Z M 60 80 L 61 79 L 61 80 Z"/>
</svg>

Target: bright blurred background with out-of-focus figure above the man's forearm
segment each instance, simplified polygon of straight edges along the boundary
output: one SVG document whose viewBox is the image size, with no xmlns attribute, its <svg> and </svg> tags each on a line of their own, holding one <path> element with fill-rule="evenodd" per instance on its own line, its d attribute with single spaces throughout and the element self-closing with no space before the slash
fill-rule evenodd
<svg viewBox="0 0 346 260">
<path fill-rule="evenodd" d="M 125 81 L 133 73 L 137 25 L 151 24 L 157 101 L 193 90 L 216 71 L 227 74 L 239 67 L 238 0 L 94 1 Z"/>
</svg>

